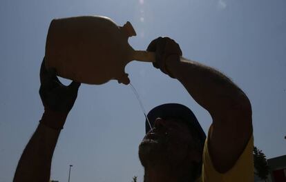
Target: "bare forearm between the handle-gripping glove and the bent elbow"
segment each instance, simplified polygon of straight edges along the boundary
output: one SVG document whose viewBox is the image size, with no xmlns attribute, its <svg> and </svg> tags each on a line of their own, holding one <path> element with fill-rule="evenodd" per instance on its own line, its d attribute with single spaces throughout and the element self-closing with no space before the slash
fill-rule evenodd
<svg viewBox="0 0 286 182">
<path fill-rule="evenodd" d="M 213 68 L 188 60 L 181 60 L 180 63 L 173 61 L 167 67 L 193 99 L 212 116 L 249 104 L 244 92 L 224 74 Z"/>
</svg>

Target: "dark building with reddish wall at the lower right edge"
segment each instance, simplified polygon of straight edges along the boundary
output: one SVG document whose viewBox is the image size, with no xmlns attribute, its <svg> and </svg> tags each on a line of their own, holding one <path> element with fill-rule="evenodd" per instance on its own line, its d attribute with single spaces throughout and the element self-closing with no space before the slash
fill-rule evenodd
<svg viewBox="0 0 286 182">
<path fill-rule="evenodd" d="M 272 182 L 286 182 L 286 155 L 268 159 Z"/>
</svg>

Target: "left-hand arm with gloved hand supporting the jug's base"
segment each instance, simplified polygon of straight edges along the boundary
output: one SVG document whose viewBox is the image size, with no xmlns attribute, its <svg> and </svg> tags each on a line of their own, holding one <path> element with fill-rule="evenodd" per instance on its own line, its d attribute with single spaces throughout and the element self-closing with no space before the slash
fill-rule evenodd
<svg viewBox="0 0 286 182">
<path fill-rule="evenodd" d="M 50 180 L 50 166 L 59 133 L 68 112 L 73 108 L 80 83 L 61 84 L 55 70 L 46 70 L 44 61 L 40 71 L 39 94 L 44 104 L 44 114 L 37 130 L 23 150 L 17 165 L 14 182 Z"/>
</svg>

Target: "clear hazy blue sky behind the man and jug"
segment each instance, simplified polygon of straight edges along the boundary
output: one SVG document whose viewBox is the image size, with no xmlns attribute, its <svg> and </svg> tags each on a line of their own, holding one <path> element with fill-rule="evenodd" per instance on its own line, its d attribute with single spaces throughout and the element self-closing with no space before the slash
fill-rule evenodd
<svg viewBox="0 0 286 182">
<path fill-rule="evenodd" d="M 179 3 L 180 2 L 180 3 Z M 103 15 L 119 26 L 131 21 L 144 50 L 169 36 L 184 57 L 227 74 L 251 100 L 255 145 L 267 158 L 286 154 L 286 1 L 275 0 L 1 0 L 0 3 L 0 181 L 12 181 L 21 152 L 35 131 L 43 106 L 39 67 L 49 23 L 58 17 Z M 207 132 L 211 124 L 180 83 L 133 61 L 126 66 L 145 110 L 162 103 L 189 106 Z M 68 81 L 65 81 L 68 83 Z M 211 92 L 211 90 L 210 90 Z M 126 85 L 82 85 L 57 143 L 52 179 L 143 180 L 137 148 L 144 114 Z"/>
</svg>

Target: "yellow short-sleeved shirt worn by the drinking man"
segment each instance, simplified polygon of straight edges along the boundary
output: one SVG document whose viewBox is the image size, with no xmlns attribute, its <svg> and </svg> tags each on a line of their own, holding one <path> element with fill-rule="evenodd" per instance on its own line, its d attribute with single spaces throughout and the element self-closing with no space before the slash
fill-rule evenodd
<svg viewBox="0 0 286 182">
<path fill-rule="evenodd" d="M 209 133 L 212 127 L 209 128 Z M 212 181 L 231 181 L 231 182 L 247 182 L 254 181 L 254 136 L 251 136 L 245 150 L 242 152 L 238 161 L 233 165 L 233 167 L 225 172 L 219 173 L 213 168 L 213 163 L 211 162 L 211 156 L 209 155 L 209 148 L 207 145 L 207 139 L 204 142 L 204 152 L 202 154 L 202 176 L 200 181 L 202 182 L 212 182 Z"/>
</svg>

